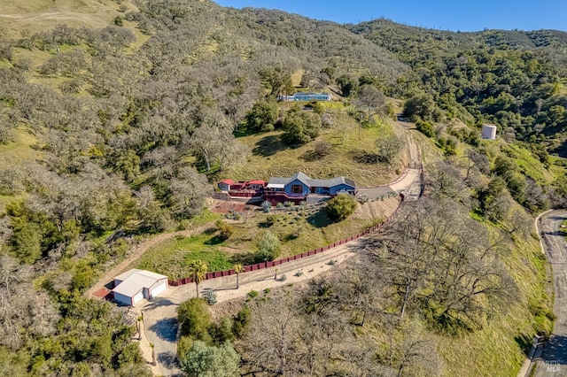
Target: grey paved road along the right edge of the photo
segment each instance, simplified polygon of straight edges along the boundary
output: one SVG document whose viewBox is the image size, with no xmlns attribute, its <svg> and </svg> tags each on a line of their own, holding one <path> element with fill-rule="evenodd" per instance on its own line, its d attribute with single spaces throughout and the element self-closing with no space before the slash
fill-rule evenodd
<svg viewBox="0 0 567 377">
<path fill-rule="evenodd" d="M 557 316 L 549 342 L 536 354 L 535 377 L 567 376 L 567 241 L 561 231 L 567 211 L 549 212 L 539 221 L 541 242 L 553 269 Z M 539 352 L 538 352 L 539 353 Z M 539 356 L 539 357 L 538 357 Z"/>
</svg>

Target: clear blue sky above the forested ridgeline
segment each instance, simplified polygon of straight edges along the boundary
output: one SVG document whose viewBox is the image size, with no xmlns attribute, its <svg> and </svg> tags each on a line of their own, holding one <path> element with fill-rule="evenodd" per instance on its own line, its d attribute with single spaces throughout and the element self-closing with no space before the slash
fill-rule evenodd
<svg viewBox="0 0 567 377">
<path fill-rule="evenodd" d="M 442 30 L 567 31 L 567 0 L 214 0 L 222 6 L 280 9 L 312 19 L 358 23 L 385 17 Z"/>
</svg>

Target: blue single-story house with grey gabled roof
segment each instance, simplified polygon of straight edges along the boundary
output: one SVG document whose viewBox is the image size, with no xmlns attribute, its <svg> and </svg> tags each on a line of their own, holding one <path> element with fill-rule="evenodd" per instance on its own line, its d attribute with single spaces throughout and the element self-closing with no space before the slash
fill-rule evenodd
<svg viewBox="0 0 567 377">
<path fill-rule="evenodd" d="M 295 173 L 291 177 L 274 177 L 268 181 L 266 195 L 307 197 L 311 194 L 320 196 L 336 196 L 339 193 L 354 195 L 356 184 L 345 177 L 330 180 L 314 180 L 305 173 Z M 267 197 L 269 198 L 269 197 Z"/>
</svg>

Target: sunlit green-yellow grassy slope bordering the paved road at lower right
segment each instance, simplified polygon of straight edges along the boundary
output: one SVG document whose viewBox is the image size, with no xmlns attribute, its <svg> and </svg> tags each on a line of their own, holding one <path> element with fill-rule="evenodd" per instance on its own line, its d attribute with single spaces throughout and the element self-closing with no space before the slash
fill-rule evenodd
<svg viewBox="0 0 567 377">
<path fill-rule="evenodd" d="M 503 315 L 486 322 L 482 330 L 447 339 L 439 337 L 437 350 L 444 359 L 444 375 L 515 376 L 536 332 L 550 332 L 555 319 L 550 271 L 535 239 L 517 239 L 505 258 L 521 298 Z M 470 358 L 475 354 L 475 358 Z"/>
</svg>

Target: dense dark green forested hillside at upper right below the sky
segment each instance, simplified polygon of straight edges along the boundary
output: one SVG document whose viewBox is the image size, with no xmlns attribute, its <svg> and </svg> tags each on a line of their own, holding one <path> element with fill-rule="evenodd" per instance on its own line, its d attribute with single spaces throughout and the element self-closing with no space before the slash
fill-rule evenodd
<svg viewBox="0 0 567 377">
<path fill-rule="evenodd" d="M 565 156 L 567 33 L 452 33 L 385 19 L 349 29 L 412 67 L 392 96 L 423 91 L 448 118 L 470 126 L 494 123 L 507 140 L 541 142 Z"/>
</svg>

